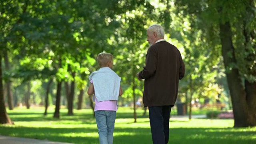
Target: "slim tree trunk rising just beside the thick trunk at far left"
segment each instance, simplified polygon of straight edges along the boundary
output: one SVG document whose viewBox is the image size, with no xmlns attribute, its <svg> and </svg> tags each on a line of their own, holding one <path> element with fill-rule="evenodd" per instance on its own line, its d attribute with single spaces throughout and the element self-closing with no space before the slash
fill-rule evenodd
<svg viewBox="0 0 256 144">
<path fill-rule="evenodd" d="M 5 63 L 5 69 L 6 71 L 10 70 L 10 62 L 9 62 L 9 57 L 7 50 L 4 50 L 4 63 Z M 10 78 L 6 80 L 6 89 L 7 89 L 7 100 L 8 100 L 8 106 L 9 110 L 13 110 L 13 95 L 12 95 L 12 83 L 10 81 Z"/>
</svg>

